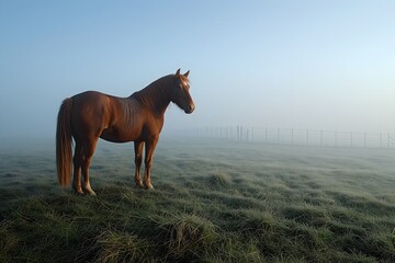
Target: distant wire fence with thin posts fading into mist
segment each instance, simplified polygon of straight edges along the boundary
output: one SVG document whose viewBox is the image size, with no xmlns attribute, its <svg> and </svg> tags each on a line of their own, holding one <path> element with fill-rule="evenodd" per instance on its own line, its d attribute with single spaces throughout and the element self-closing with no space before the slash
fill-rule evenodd
<svg viewBox="0 0 395 263">
<path fill-rule="evenodd" d="M 395 148 L 395 134 L 391 133 L 346 133 L 317 129 L 248 127 L 237 125 L 193 128 L 190 135 L 200 138 L 221 138 L 233 141 L 256 141 L 279 145 Z"/>
</svg>

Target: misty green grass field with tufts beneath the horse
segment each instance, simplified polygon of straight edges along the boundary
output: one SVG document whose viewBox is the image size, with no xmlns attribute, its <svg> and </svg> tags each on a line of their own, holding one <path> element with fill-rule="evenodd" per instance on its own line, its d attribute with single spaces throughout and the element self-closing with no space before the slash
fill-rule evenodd
<svg viewBox="0 0 395 263">
<path fill-rule="evenodd" d="M 394 262 L 395 151 L 100 141 L 98 196 L 57 185 L 47 140 L 0 148 L 0 262 Z"/>
</svg>

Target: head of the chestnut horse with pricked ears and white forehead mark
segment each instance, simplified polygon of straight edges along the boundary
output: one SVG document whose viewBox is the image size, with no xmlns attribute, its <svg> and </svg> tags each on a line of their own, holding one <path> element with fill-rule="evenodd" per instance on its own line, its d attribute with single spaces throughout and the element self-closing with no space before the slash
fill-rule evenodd
<svg viewBox="0 0 395 263">
<path fill-rule="evenodd" d="M 195 106 L 192 96 L 189 92 L 189 70 L 184 75 L 180 75 L 180 69 L 174 75 L 174 88 L 171 95 L 171 101 L 176 103 L 185 113 L 190 114 L 194 111 Z"/>
</svg>

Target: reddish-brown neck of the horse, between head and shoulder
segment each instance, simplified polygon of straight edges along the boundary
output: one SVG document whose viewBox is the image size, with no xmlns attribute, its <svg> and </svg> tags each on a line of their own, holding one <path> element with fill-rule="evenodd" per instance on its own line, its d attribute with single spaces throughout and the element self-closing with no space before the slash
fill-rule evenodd
<svg viewBox="0 0 395 263">
<path fill-rule="evenodd" d="M 157 114 L 163 114 L 170 104 L 170 79 L 163 77 L 132 96 Z"/>
</svg>

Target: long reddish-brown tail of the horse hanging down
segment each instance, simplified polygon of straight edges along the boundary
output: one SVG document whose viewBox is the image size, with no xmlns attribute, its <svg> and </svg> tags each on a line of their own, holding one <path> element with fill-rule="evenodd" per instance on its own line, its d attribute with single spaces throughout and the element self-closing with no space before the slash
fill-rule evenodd
<svg viewBox="0 0 395 263">
<path fill-rule="evenodd" d="M 56 125 L 56 167 L 61 186 L 70 185 L 72 170 L 71 99 L 66 99 L 59 108 Z"/>
</svg>

